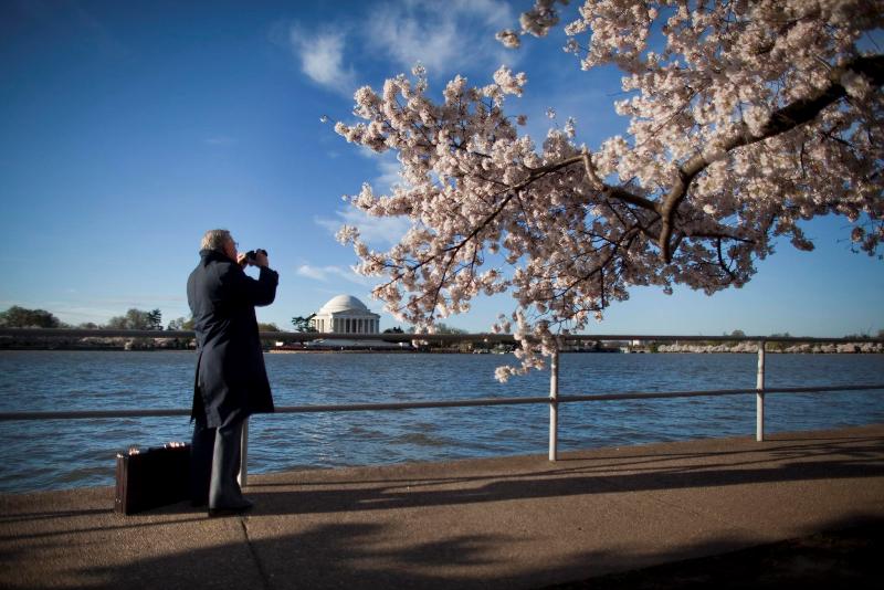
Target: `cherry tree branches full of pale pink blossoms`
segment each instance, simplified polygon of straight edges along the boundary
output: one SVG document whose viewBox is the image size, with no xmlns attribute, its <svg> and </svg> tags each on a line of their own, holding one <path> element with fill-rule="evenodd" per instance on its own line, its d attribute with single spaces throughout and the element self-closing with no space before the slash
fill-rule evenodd
<svg viewBox="0 0 884 590">
<path fill-rule="evenodd" d="M 557 3 L 537 0 L 498 39 L 546 35 Z M 587 0 L 565 49 L 582 70 L 622 72 L 627 135 L 591 150 L 569 119 L 538 146 L 504 112 L 525 74 L 457 76 L 434 101 L 418 66 L 360 88 L 362 120 L 335 126 L 397 154 L 401 183 L 348 199 L 411 229 L 386 252 L 357 228 L 338 238 L 383 277 L 373 296 L 428 331 L 480 294 L 512 293 L 516 310 L 493 328 L 515 324 L 522 364 L 498 379 L 543 367 L 557 335 L 632 286 L 712 294 L 749 281 L 779 236 L 812 250 L 803 220 L 844 215 L 855 250 L 881 257 L 884 56 L 861 48 L 882 27 L 880 0 Z"/>
</svg>

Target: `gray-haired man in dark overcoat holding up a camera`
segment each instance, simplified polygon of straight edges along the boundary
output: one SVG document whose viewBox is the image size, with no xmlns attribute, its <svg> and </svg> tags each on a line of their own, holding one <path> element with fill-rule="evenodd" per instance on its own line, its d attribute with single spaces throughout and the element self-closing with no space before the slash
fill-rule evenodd
<svg viewBox="0 0 884 590">
<path fill-rule="evenodd" d="M 187 282 L 199 358 L 193 383 L 191 494 L 209 516 L 241 514 L 252 507 L 243 497 L 240 471 L 242 426 L 252 413 L 273 412 L 273 397 L 257 335 L 255 306 L 276 297 L 278 274 L 266 252 L 254 259 L 236 253 L 227 230 L 202 236 L 200 263 Z M 243 272 L 257 266 L 255 281 Z"/>
</svg>

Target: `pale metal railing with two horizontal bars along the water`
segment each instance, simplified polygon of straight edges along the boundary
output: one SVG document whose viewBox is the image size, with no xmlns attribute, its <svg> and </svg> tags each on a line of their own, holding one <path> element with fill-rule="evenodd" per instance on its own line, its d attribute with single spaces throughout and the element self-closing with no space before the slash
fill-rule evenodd
<svg viewBox="0 0 884 590">
<path fill-rule="evenodd" d="M 88 330 L 88 329 L 31 329 L 31 328 L 0 328 L 1 337 L 40 337 L 57 338 L 67 337 L 124 337 L 124 338 L 185 338 L 192 339 L 192 331 L 179 330 Z M 459 335 L 413 335 L 413 334 L 328 334 L 328 333 L 287 333 L 287 331 L 263 331 L 261 338 L 264 340 L 275 340 L 283 343 L 309 341 L 309 340 L 382 340 L 388 343 L 411 343 L 415 339 L 432 343 L 494 343 L 494 344 L 515 344 L 512 335 L 506 334 L 459 334 Z M 851 386 L 817 386 L 817 387 L 792 387 L 792 388 L 767 388 L 765 387 L 765 361 L 767 343 L 788 343 L 788 344 L 859 344 L 873 343 L 884 344 L 882 338 L 800 338 L 800 337 L 772 337 L 772 336 L 649 336 L 649 335 L 567 335 L 557 339 L 559 349 L 573 343 L 585 341 L 653 341 L 653 343 L 754 343 L 757 347 L 758 365 L 755 388 L 738 389 L 717 389 L 699 391 L 632 391 L 597 393 L 587 396 L 560 396 L 559 394 L 559 350 L 554 351 L 549 362 L 549 397 L 518 397 L 518 398 L 471 398 L 459 400 L 434 400 L 434 401 L 412 401 L 412 402 L 376 402 L 376 403 L 350 403 L 350 404 L 311 404 L 311 405 L 284 405 L 277 407 L 276 413 L 313 413 L 313 412 L 361 412 L 361 411 L 393 411 L 393 410 L 418 410 L 431 408 L 470 408 L 486 405 L 518 405 L 545 403 L 549 405 L 549 461 L 558 460 L 558 407 L 561 403 L 572 402 L 598 402 L 598 401 L 624 401 L 624 400 L 648 400 L 648 399 L 672 399 L 672 398 L 697 398 L 697 397 L 720 397 L 751 394 L 756 396 L 756 440 L 765 440 L 765 396 L 768 393 L 814 393 L 814 392 L 835 392 L 835 391 L 866 391 L 884 390 L 884 383 L 864 383 Z M 82 411 L 21 411 L 21 412 L 0 412 L 0 421 L 9 420 L 76 420 L 76 419 L 115 419 L 115 418 L 157 418 L 190 415 L 189 409 L 144 409 L 144 410 L 82 410 Z M 248 450 L 249 450 L 249 424 L 243 428 L 242 440 L 242 463 L 240 472 L 240 483 L 246 485 L 248 482 Z"/>
</svg>

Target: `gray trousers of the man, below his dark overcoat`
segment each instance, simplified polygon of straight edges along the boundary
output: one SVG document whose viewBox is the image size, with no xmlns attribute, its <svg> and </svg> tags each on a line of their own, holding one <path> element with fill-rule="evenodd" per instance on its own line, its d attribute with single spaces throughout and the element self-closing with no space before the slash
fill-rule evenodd
<svg viewBox="0 0 884 590">
<path fill-rule="evenodd" d="M 191 496 L 194 504 L 209 501 L 209 508 L 234 507 L 243 503 L 236 481 L 242 459 L 241 417 L 231 417 L 217 429 L 197 419 L 191 445 Z"/>
</svg>

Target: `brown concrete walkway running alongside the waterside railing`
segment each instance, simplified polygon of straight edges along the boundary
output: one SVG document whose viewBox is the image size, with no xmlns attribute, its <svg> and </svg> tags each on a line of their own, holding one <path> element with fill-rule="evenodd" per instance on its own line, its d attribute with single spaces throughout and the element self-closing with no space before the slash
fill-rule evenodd
<svg viewBox="0 0 884 590">
<path fill-rule="evenodd" d="M 884 424 L 253 475 L 248 517 L 0 496 L 2 588 L 540 588 L 884 517 Z"/>
</svg>

